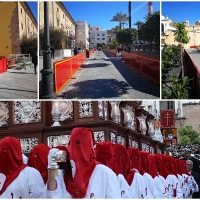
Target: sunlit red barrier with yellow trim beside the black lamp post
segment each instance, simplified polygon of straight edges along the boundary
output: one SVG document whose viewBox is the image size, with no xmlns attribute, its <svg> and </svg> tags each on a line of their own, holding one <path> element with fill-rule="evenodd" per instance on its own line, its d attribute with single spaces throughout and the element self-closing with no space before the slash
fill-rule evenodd
<svg viewBox="0 0 200 200">
<path fill-rule="evenodd" d="M 81 65 L 86 61 L 85 53 L 54 63 L 54 84 L 56 94 L 70 81 Z"/>
</svg>

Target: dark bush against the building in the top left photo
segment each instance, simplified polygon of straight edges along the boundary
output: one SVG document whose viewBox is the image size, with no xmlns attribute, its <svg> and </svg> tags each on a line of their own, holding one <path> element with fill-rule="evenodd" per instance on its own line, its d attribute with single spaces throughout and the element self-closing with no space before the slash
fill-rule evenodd
<svg viewBox="0 0 200 200">
<path fill-rule="evenodd" d="M 32 35 L 29 38 L 27 38 L 26 35 L 23 35 L 20 40 L 20 48 L 21 53 L 33 56 L 38 50 L 37 35 Z"/>
</svg>

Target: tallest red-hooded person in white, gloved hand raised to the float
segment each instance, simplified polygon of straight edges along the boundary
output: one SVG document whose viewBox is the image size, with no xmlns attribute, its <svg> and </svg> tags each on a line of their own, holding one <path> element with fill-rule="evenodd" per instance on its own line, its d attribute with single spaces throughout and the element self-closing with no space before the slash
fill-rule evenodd
<svg viewBox="0 0 200 200">
<path fill-rule="evenodd" d="M 96 161 L 94 133 L 88 128 L 74 128 L 68 144 L 71 172 L 54 175 L 50 169 L 53 148 L 48 156 L 49 175 L 45 198 L 121 198 L 115 173 Z"/>
</svg>

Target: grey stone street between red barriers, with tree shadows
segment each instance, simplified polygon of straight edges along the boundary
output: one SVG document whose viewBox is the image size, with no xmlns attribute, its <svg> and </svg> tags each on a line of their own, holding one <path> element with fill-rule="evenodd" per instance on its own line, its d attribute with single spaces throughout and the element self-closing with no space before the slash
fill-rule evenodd
<svg viewBox="0 0 200 200">
<path fill-rule="evenodd" d="M 96 51 L 58 93 L 64 99 L 158 99 L 160 85 L 120 58 Z"/>
</svg>

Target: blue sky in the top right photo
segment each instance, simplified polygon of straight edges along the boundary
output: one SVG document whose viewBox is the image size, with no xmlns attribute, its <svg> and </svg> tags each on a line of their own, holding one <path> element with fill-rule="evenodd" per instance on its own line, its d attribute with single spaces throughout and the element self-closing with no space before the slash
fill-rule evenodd
<svg viewBox="0 0 200 200">
<path fill-rule="evenodd" d="M 200 2 L 162 2 L 161 14 L 172 22 L 189 20 L 191 25 L 200 20 Z"/>
</svg>

